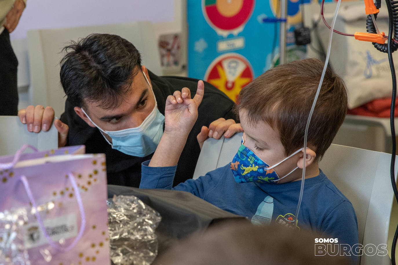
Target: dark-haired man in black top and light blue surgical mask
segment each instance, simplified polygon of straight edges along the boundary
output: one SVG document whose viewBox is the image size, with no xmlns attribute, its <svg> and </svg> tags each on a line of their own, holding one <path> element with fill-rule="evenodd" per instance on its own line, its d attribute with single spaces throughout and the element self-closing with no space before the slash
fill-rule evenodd
<svg viewBox="0 0 398 265">
<path fill-rule="evenodd" d="M 135 46 L 117 35 L 92 34 L 64 51 L 60 79 L 67 100 L 65 112 L 54 121 L 59 146 L 84 144 L 87 153 L 105 153 L 108 184 L 139 186 L 141 163 L 152 157 L 163 134 L 166 98 L 183 87 L 195 95 L 204 86 L 205 94 L 176 184 L 192 178 L 199 145 L 208 136 L 230 137 L 241 130 L 234 103 L 224 93 L 197 79 L 153 74 L 141 66 Z M 49 129 L 54 111 L 28 106 L 18 116 L 30 132 L 40 132 Z"/>
</svg>

